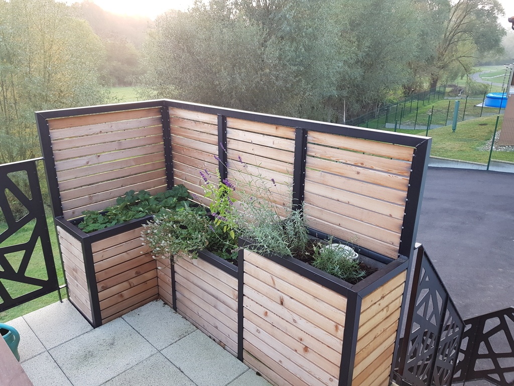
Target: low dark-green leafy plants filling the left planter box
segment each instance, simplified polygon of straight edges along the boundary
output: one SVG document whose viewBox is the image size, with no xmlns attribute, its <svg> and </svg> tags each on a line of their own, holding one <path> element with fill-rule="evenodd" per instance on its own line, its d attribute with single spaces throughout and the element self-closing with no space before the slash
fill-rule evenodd
<svg viewBox="0 0 514 386">
<path fill-rule="evenodd" d="M 78 227 L 85 233 L 90 233 L 125 221 L 156 214 L 162 208 L 185 207 L 189 205 L 190 199 L 188 189 L 183 185 L 176 185 L 172 189 L 159 192 L 154 196 L 146 190 L 139 192 L 129 190 L 124 196 L 116 199 L 116 205 L 106 207 L 100 212 L 84 210 L 82 212 L 84 218 Z"/>
</svg>

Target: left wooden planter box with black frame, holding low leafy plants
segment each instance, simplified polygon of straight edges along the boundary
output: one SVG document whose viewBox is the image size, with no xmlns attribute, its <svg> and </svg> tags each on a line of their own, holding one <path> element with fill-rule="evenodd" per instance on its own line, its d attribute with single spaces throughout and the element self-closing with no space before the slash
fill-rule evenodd
<svg viewBox="0 0 514 386">
<path fill-rule="evenodd" d="M 141 241 L 150 218 L 89 234 L 80 219 L 56 218 L 69 300 L 93 327 L 157 299 L 157 263 Z"/>
</svg>

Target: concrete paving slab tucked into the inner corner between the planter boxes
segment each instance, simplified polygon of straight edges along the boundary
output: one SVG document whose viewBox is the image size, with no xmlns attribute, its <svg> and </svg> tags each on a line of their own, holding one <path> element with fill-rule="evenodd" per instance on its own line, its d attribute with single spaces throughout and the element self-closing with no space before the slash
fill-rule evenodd
<svg viewBox="0 0 514 386">
<path fill-rule="evenodd" d="M 145 304 L 122 318 L 158 350 L 196 330 L 193 324 L 161 300 Z"/>
</svg>

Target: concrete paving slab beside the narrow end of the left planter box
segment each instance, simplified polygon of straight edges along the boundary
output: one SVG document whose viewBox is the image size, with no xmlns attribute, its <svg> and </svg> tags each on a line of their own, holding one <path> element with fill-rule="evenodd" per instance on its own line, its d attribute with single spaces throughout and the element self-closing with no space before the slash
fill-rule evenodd
<svg viewBox="0 0 514 386">
<path fill-rule="evenodd" d="M 23 319 L 47 349 L 93 329 L 67 300 L 30 312 Z"/>
</svg>

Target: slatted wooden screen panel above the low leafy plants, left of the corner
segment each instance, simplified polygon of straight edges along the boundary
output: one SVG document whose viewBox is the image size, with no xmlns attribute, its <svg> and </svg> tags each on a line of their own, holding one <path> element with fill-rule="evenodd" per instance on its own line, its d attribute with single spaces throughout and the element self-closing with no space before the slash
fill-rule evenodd
<svg viewBox="0 0 514 386">
<path fill-rule="evenodd" d="M 167 189 L 160 108 L 47 120 L 65 219 Z"/>
</svg>

